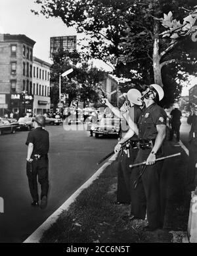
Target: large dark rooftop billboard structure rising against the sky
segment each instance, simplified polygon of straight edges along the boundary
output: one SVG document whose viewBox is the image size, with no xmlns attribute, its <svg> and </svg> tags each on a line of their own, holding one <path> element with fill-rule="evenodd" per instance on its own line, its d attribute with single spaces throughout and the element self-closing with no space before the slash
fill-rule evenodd
<svg viewBox="0 0 197 256">
<path fill-rule="evenodd" d="M 50 38 L 50 57 L 63 49 L 72 53 L 77 49 L 77 36 L 58 36 Z"/>
</svg>

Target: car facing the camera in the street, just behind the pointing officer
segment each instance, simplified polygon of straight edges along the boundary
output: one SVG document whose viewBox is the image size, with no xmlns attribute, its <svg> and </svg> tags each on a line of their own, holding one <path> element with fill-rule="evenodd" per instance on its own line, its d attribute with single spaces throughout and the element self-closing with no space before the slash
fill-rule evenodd
<svg viewBox="0 0 197 256">
<path fill-rule="evenodd" d="M 99 120 L 99 124 L 91 127 L 95 138 L 99 138 L 99 135 L 117 135 L 120 134 L 120 118 L 102 118 Z"/>
</svg>

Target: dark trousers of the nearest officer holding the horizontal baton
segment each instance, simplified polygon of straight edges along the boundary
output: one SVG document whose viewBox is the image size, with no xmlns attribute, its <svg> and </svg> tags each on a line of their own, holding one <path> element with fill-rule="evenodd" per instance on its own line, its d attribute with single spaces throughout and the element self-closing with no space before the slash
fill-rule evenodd
<svg viewBox="0 0 197 256">
<path fill-rule="evenodd" d="M 146 161 L 152 149 L 139 149 L 135 163 Z M 156 158 L 162 157 L 162 153 Z M 150 228 L 158 228 L 164 224 L 165 201 L 162 196 L 162 165 L 163 161 L 158 161 L 154 165 L 146 165 L 142 178 L 133 188 L 133 182 L 139 176 L 142 166 L 133 168 L 131 172 L 131 214 L 137 218 L 148 218 Z"/>
</svg>

